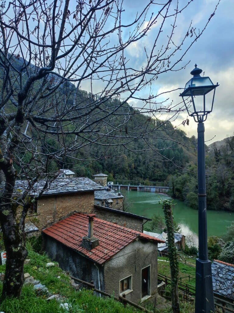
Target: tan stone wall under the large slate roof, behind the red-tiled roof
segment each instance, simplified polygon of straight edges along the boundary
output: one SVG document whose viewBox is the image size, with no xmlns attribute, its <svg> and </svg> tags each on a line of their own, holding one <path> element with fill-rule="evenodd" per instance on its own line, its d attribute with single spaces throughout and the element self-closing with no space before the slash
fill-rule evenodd
<svg viewBox="0 0 234 313">
<path fill-rule="evenodd" d="M 93 213 L 93 206 L 93 191 L 58 196 L 42 196 L 37 201 L 37 214 L 33 214 L 33 217 L 38 219 L 38 222 L 34 221 L 34 224 L 39 230 L 42 230 L 42 228 L 58 221 L 73 211 Z M 32 220 L 32 216 L 29 216 L 27 220 Z"/>
</svg>

